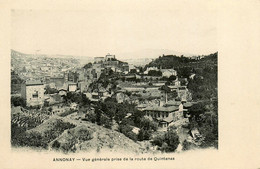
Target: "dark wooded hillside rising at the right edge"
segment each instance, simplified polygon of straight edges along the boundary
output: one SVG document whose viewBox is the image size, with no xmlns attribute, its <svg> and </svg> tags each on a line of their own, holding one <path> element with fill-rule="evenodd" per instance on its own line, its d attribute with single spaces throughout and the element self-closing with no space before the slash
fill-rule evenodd
<svg viewBox="0 0 260 169">
<path fill-rule="evenodd" d="M 196 58 L 201 58 L 198 56 Z M 179 78 L 188 79 L 188 89 L 194 100 L 217 98 L 218 53 L 203 56 L 201 59 L 165 55 L 145 66 L 163 69 L 174 68 Z M 194 78 L 190 78 L 194 75 Z"/>
</svg>

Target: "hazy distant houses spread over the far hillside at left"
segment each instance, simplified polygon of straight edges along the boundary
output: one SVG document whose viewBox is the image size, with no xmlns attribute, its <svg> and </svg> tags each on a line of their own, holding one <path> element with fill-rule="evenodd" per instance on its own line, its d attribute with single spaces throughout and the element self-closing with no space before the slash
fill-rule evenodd
<svg viewBox="0 0 260 169">
<path fill-rule="evenodd" d="M 52 58 L 11 50 L 11 70 L 22 79 L 48 81 L 63 77 L 64 73 L 76 71 L 79 67 L 79 60 L 74 58 Z"/>
</svg>

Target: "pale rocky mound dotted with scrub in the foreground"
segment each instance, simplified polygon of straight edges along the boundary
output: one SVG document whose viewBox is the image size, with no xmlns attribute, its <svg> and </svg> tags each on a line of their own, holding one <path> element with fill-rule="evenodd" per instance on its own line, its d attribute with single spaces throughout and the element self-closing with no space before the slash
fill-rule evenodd
<svg viewBox="0 0 260 169">
<path fill-rule="evenodd" d="M 52 116 L 17 137 L 19 137 L 19 142 L 13 142 L 15 145 L 65 153 L 110 151 L 139 154 L 151 152 L 146 150 L 140 142 L 134 142 L 122 133 L 79 120 L 77 113 L 66 117 Z"/>
</svg>

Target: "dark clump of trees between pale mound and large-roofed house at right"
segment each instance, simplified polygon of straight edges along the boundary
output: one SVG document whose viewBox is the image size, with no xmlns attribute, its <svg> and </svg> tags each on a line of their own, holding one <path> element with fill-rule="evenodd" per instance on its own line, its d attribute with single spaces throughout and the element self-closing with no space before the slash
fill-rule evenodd
<svg viewBox="0 0 260 169">
<path fill-rule="evenodd" d="M 131 116 L 125 118 L 127 115 Z M 95 111 L 86 114 L 86 119 L 110 129 L 115 120 L 119 124 L 118 131 L 134 141 L 149 140 L 158 128 L 155 122 L 145 119 L 144 113 L 137 110 L 135 105 L 127 102 L 117 103 L 114 99 L 96 103 Z M 138 135 L 132 132 L 133 127 L 140 128 Z"/>
</svg>

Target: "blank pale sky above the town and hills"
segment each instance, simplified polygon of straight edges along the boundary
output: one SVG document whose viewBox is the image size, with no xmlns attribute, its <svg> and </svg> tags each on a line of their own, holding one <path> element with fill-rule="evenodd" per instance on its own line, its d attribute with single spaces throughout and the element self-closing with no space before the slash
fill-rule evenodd
<svg viewBox="0 0 260 169">
<path fill-rule="evenodd" d="M 161 49 L 195 55 L 218 50 L 213 4 L 125 2 L 84 10 L 14 9 L 11 47 L 23 53 L 90 57 Z"/>
</svg>

